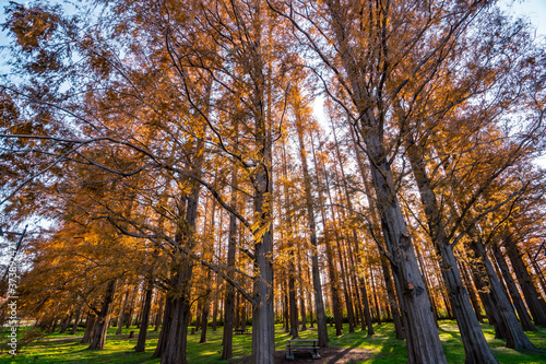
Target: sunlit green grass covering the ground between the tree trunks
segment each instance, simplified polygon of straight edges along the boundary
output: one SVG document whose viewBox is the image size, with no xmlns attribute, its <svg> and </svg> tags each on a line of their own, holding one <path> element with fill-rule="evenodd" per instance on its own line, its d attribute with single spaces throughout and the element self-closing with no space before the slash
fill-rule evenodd
<svg viewBox="0 0 546 364">
<path fill-rule="evenodd" d="M 491 347 L 495 355 L 500 363 L 546 363 L 546 351 L 535 353 L 520 353 L 505 348 L 502 340 L 495 339 L 494 328 L 488 325 L 483 325 L 486 339 Z M 347 331 L 347 327 L 344 327 Z M 340 348 L 363 348 L 373 353 L 373 359 L 366 363 L 373 364 L 391 364 L 391 363 L 407 363 L 407 353 L 405 342 L 396 340 L 393 333 L 392 324 L 382 324 L 375 326 L 376 334 L 367 337 L 366 332 L 356 331 L 353 333 L 344 333 L 341 337 L 335 337 L 334 328 L 329 327 L 331 338 L 331 347 Z M 20 331 L 20 336 L 24 334 L 25 329 Z M 158 359 L 151 359 L 152 353 L 157 344 L 157 333 L 150 330 L 150 337 L 146 342 L 146 352 L 135 353 L 134 345 L 136 344 L 138 329 L 131 327 L 123 328 L 122 333 L 128 334 L 130 331 L 135 331 L 135 338 L 108 338 L 106 348 L 103 351 L 87 351 L 87 344 L 81 344 L 79 341 L 59 341 L 62 338 L 72 338 L 72 336 L 59 332 L 54 332 L 47 336 L 48 340 L 40 340 L 25 348 L 20 348 L 16 356 L 5 352 L 0 355 L 0 363 L 72 363 L 72 364 L 121 364 L 121 363 L 145 363 L 156 364 Z M 459 330 L 455 321 L 440 322 L 440 339 L 442 340 L 443 349 L 449 363 L 464 363 L 464 350 L 459 336 Z M 116 328 L 108 329 L 108 334 L 115 334 Z M 2 334 L 2 343 L 7 342 L 5 334 Z M 83 329 L 79 329 L 78 336 L 83 336 Z M 538 332 L 527 332 L 529 338 L 533 343 L 542 349 L 546 349 L 546 329 L 542 328 Z M 307 330 L 300 332 L 301 338 L 316 338 L 316 330 Z M 227 363 L 219 361 L 222 351 L 222 328 L 216 332 L 209 330 L 207 342 L 198 343 L 200 333 L 188 334 L 188 361 L 190 363 Z M 277 350 L 285 349 L 285 340 L 289 339 L 289 334 L 285 333 L 281 326 L 276 326 L 275 345 Z M 234 336 L 234 357 L 250 355 L 251 353 L 251 336 Z"/>
</svg>

